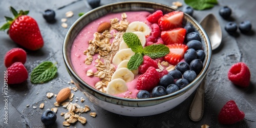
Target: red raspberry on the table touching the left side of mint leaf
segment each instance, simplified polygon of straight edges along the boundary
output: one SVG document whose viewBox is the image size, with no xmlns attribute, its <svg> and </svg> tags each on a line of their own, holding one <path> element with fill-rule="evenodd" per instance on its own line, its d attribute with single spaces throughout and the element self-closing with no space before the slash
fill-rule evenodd
<svg viewBox="0 0 256 128">
<path fill-rule="evenodd" d="M 28 79 L 28 71 L 21 62 L 13 63 L 7 71 L 8 84 L 22 83 Z"/>
</svg>

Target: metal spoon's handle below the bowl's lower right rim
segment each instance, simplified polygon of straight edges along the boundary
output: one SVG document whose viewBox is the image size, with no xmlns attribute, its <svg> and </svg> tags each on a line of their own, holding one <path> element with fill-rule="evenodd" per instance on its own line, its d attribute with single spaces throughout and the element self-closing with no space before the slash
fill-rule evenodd
<svg viewBox="0 0 256 128">
<path fill-rule="evenodd" d="M 193 121 L 201 120 L 204 115 L 204 83 L 205 77 L 200 83 L 196 96 L 189 108 L 189 118 Z"/>
</svg>

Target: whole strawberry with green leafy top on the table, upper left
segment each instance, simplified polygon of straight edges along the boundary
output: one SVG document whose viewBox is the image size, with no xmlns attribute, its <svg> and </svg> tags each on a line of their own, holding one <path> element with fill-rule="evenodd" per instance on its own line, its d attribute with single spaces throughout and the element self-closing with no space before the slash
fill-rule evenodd
<svg viewBox="0 0 256 128">
<path fill-rule="evenodd" d="M 17 12 L 10 7 L 14 18 L 5 16 L 7 23 L 3 25 L 0 30 L 8 30 L 10 38 L 18 45 L 23 46 L 29 50 L 38 50 L 44 46 L 38 25 L 32 17 L 27 14 L 29 11 Z"/>
</svg>

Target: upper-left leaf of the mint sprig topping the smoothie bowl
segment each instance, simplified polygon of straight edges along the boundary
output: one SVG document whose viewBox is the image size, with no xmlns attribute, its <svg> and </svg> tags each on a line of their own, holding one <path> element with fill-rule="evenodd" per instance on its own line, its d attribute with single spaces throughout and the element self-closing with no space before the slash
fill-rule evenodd
<svg viewBox="0 0 256 128">
<path fill-rule="evenodd" d="M 141 45 L 140 39 L 138 36 L 132 32 L 125 32 L 123 34 L 123 40 L 128 47 L 132 49 L 135 53 L 142 53 L 143 47 Z"/>
</svg>

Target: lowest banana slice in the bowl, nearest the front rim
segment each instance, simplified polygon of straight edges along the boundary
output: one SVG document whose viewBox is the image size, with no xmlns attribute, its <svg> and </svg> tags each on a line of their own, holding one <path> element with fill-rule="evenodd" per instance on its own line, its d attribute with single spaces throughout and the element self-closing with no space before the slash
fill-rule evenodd
<svg viewBox="0 0 256 128">
<path fill-rule="evenodd" d="M 126 86 L 125 81 L 120 78 L 111 80 L 108 87 L 106 87 L 106 93 L 110 95 L 120 94 L 126 92 L 127 90 L 128 87 Z"/>
</svg>

